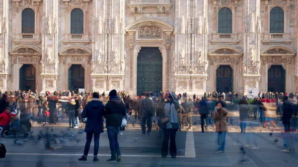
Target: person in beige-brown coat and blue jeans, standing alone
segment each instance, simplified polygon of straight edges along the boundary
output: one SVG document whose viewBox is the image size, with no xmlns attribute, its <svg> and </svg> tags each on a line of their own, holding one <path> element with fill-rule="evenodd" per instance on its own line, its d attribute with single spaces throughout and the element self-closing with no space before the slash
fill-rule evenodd
<svg viewBox="0 0 298 167">
<path fill-rule="evenodd" d="M 217 152 L 224 153 L 225 146 L 225 135 L 228 131 L 227 127 L 227 114 L 228 111 L 223 108 L 223 102 L 217 102 L 217 110 L 214 112 L 214 120 L 216 121 L 215 132 L 217 133 L 217 140 L 219 144 L 219 149 Z"/>
</svg>

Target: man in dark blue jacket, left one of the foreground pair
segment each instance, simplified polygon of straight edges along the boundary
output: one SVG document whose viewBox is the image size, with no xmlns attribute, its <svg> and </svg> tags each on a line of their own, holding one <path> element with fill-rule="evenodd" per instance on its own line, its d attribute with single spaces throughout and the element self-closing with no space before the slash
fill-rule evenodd
<svg viewBox="0 0 298 167">
<path fill-rule="evenodd" d="M 85 106 L 82 111 L 81 117 L 88 118 L 86 123 L 85 132 L 86 134 L 86 144 L 84 149 L 84 155 L 79 158 L 79 161 L 87 161 L 87 155 L 90 149 L 90 144 L 92 136 L 94 133 L 94 157 L 93 162 L 99 161 L 97 158 L 98 149 L 99 149 L 99 135 L 103 133 L 103 113 L 104 105 L 99 100 L 99 94 L 94 92 L 92 94 L 93 99 Z"/>
</svg>

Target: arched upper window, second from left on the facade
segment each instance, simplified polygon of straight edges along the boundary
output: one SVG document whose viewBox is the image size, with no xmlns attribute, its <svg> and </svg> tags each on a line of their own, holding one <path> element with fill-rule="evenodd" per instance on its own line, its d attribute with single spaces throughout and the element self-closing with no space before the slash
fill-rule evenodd
<svg viewBox="0 0 298 167">
<path fill-rule="evenodd" d="M 81 9 L 75 8 L 71 13 L 71 34 L 84 33 L 84 13 Z"/>
</svg>

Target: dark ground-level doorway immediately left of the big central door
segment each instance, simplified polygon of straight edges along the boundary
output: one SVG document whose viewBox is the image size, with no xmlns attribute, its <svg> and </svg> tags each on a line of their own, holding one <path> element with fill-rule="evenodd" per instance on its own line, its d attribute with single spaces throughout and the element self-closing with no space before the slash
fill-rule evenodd
<svg viewBox="0 0 298 167">
<path fill-rule="evenodd" d="M 73 64 L 69 68 L 68 87 L 70 91 L 78 93 L 78 89 L 84 89 L 85 70 L 80 64 Z"/>
</svg>

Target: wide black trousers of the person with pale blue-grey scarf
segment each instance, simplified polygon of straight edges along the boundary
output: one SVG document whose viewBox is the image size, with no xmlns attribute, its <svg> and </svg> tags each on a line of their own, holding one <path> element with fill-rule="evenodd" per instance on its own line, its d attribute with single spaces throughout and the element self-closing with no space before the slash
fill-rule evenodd
<svg viewBox="0 0 298 167">
<path fill-rule="evenodd" d="M 169 140 L 170 140 L 170 155 L 172 157 L 175 157 L 177 155 L 176 132 L 177 132 L 177 129 L 163 129 L 163 142 L 161 147 L 162 157 L 166 157 L 168 154 Z"/>
</svg>

